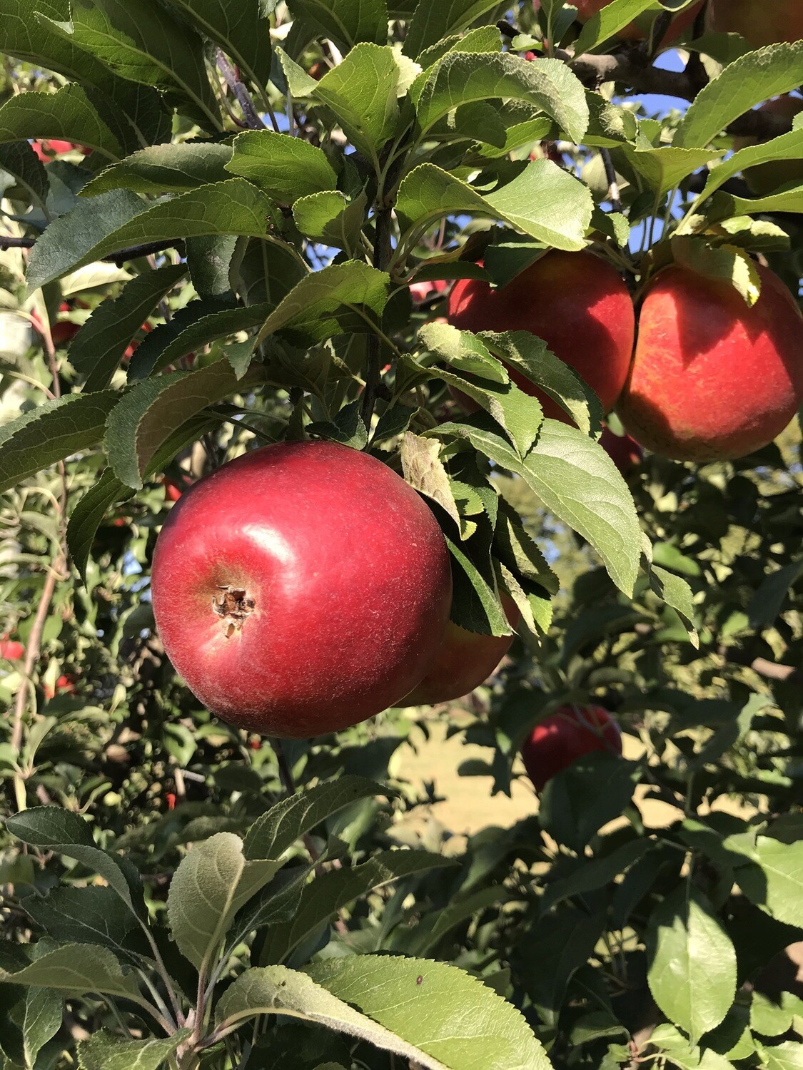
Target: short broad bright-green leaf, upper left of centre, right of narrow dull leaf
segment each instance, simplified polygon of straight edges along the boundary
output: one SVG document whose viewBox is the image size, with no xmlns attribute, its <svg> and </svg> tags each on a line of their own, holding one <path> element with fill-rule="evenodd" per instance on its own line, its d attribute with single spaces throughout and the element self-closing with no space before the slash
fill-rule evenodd
<svg viewBox="0 0 803 1070">
<path fill-rule="evenodd" d="M 226 170 L 253 182 L 282 204 L 337 185 L 324 152 L 301 138 L 273 131 L 238 134 Z"/>
</svg>

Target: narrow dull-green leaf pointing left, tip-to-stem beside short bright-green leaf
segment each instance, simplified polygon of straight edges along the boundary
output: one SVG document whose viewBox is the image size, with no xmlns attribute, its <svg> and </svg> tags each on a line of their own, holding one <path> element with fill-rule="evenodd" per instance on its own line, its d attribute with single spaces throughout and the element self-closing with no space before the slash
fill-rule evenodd
<svg viewBox="0 0 803 1070">
<path fill-rule="evenodd" d="M 90 179 L 80 196 L 97 197 L 110 189 L 130 189 L 135 194 L 185 193 L 225 181 L 230 159 L 230 146 L 213 141 L 152 144 Z"/>
</svg>

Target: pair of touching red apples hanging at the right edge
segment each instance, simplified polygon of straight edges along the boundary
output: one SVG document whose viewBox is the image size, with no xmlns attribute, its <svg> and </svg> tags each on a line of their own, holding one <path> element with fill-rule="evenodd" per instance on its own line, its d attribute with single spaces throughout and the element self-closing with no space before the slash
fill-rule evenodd
<svg viewBox="0 0 803 1070">
<path fill-rule="evenodd" d="M 727 280 L 672 264 L 648 284 L 637 322 L 615 268 L 592 253 L 556 250 L 499 290 L 457 282 L 448 315 L 465 331 L 543 338 L 655 453 L 728 460 L 772 442 L 803 401 L 803 318 L 781 279 L 757 271 L 761 294 L 748 307 Z M 569 418 L 529 380 L 511 376 L 546 416 Z"/>
</svg>

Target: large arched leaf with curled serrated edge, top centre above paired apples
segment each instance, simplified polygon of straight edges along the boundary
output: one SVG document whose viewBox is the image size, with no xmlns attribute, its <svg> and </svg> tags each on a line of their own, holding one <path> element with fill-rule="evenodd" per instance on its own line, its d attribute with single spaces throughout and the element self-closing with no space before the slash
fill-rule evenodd
<svg viewBox="0 0 803 1070">
<path fill-rule="evenodd" d="M 578 143 L 588 127 L 586 93 L 560 60 L 528 61 L 510 52 L 450 52 L 420 87 L 415 106 L 422 136 L 458 105 L 491 97 L 535 105 Z"/>
</svg>

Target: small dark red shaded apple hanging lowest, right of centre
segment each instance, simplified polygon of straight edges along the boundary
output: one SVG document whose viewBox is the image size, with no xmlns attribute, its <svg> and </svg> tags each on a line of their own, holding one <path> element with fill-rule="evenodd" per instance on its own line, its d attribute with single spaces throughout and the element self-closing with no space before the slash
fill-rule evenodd
<svg viewBox="0 0 803 1070">
<path fill-rule="evenodd" d="M 592 750 L 622 753 L 622 733 L 602 706 L 561 706 L 539 721 L 521 747 L 525 768 L 537 791 L 556 773 Z"/>
</svg>

